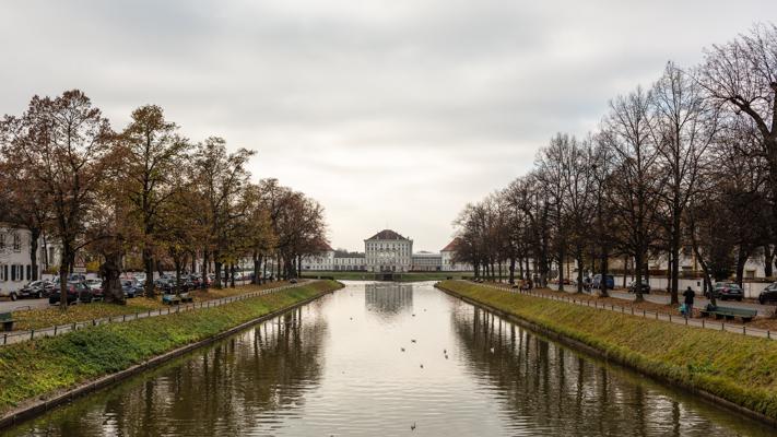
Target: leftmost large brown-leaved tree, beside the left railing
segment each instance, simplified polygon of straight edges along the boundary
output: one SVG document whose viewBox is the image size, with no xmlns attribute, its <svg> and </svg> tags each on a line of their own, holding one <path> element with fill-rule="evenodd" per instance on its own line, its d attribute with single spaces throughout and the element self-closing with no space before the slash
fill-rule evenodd
<svg viewBox="0 0 777 437">
<path fill-rule="evenodd" d="M 95 193 L 103 179 L 105 155 L 114 137 L 108 120 L 86 95 L 72 90 L 56 98 L 34 96 L 20 118 L 3 121 L 8 142 L 3 154 L 17 164 L 51 204 L 54 234 L 62 246 L 59 268 L 61 296 L 76 252 L 85 240 L 85 217 L 95 213 Z M 67 298 L 60 299 L 62 310 Z"/>
</svg>

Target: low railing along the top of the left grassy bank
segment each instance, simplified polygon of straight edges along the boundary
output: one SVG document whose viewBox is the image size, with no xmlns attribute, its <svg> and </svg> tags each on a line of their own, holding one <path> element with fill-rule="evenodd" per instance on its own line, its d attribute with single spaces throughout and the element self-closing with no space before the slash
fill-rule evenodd
<svg viewBox="0 0 777 437">
<path fill-rule="evenodd" d="M 21 343 L 21 342 L 38 339 L 42 336 L 61 335 L 61 334 L 64 334 L 68 332 L 78 331 L 78 330 L 89 328 L 89 327 L 96 327 L 99 324 L 121 323 L 125 321 L 146 319 L 149 317 L 167 316 L 169 314 L 178 314 L 178 312 L 193 311 L 193 310 L 198 310 L 198 309 L 202 309 L 202 308 L 219 307 L 219 306 L 222 306 L 225 304 L 232 304 L 233 302 L 245 300 L 245 299 L 249 299 L 249 298 L 257 297 L 257 296 L 263 296 L 263 295 L 267 295 L 270 293 L 276 293 L 276 292 L 280 292 L 283 290 L 294 288 L 294 287 L 304 285 L 308 281 L 303 280 L 303 281 L 299 281 L 299 283 L 297 283 L 297 284 L 289 284 L 289 285 L 283 285 L 280 287 L 267 288 L 267 290 L 257 290 L 256 292 L 238 294 L 235 296 L 221 297 L 217 299 L 204 300 L 204 302 L 196 302 L 196 303 L 191 303 L 191 304 L 181 304 L 181 305 L 176 305 L 176 306 L 169 306 L 166 308 L 150 309 L 148 311 L 140 311 L 140 312 L 134 312 L 134 314 L 125 314 L 125 315 L 119 315 L 119 316 L 103 317 L 99 319 L 79 321 L 79 322 L 73 322 L 73 323 L 68 323 L 68 324 L 58 324 L 58 326 L 42 328 L 42 329 L 32 329 L 28 331 L 4 332 L 2 334 L 2 338 L 0 338 L 0 346 L 4 346 L 8 344 L 14 344 L 14 343 Z"/>
</svg>

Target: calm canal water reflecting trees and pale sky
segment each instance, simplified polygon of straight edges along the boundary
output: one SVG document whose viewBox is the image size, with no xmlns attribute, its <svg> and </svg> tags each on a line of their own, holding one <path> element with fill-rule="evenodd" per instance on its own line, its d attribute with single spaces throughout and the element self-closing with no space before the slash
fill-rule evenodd
<svg viewBox="0 0 777 437">
<path fill-rule="evenodd" d="M 549 342 L 431 284 L 351 283 L 8 434 L 776 433 Z"/>
</svg>

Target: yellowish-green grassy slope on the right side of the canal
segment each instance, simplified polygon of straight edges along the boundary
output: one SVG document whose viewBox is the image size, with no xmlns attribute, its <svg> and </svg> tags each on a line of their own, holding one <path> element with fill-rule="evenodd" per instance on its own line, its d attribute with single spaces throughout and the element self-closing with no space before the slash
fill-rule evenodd
<svg viewBox="0 0 777 437">
<path fill-rule="evenodd" d="M 506 293 L 439 286 L 585 343 L 639 371 L 701 389 L 777 421 L 777 342 Z"/>
</svg>

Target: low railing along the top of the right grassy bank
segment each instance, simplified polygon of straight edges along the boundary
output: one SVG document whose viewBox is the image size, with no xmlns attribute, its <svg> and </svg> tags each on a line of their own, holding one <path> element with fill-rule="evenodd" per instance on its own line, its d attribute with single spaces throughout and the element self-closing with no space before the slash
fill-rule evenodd
<svg viewBox="0 0 777 437">
<path fill-rule="evenodd" d="M 743 335 L 774 340 L 774 334 L 772 333 L 772 331 L 766 330 L 766 329 L 760 329 L 760 328 L 747 328 L 744 324 L 731 324 L 731 323 L 726 324 L 726 322 L 722 322 L 722 321 L 717 322 L 717 321 L 713 321 L 713 320 L 707 320 L 705 318 L 686 319 L 683 316 L 672 316 L 669 312 L 659 312 L 659 311 L 651 311 L 651 310 L 647 310 L 647 309 L 637 309 L 637 308 L 634 308 L 633 306 L 620 306 L 620 305 L 613 305 L 613 304 L 598 303 L 594 299 L 576 299 L 574 297 L 557 296 L 557 295 L 545 294 L 545 293 L 537 293 L 537 292 L 532 292 L 529 290 L 510 288 L 510 287 L 499 286 L 499 285 L 494 285 L 494 284 L 479 284 L 479 285 L 484 285 L 484 286 L 487 286 L 491 288 L 496 288 L 496 290 L 501 290 L 501 291 L 508 292 L 508 293 L 522 294 L 522 295 L 532 296 L 532 297 L 541 297 L 543 299 L 564 302 L 567 304 L 579 305 L 579 306 L 584 306 L 584 307 L 591 307 L 591 308 L 596 308 L 596 309 L 627 314 L 631 316 L 643 317 L 646 319 L 663 320 L 663 321 L 668 321 L 671 323 L 685 324 L 688 327 L 711 329 L 711 330 L 716 330 L 716 331 L 727 331 L 727 332 L 733 332 L 733 333 L 739 333 L 739 334 L 743 334 Z"/>
</svg>

